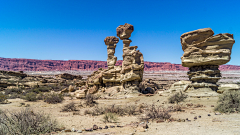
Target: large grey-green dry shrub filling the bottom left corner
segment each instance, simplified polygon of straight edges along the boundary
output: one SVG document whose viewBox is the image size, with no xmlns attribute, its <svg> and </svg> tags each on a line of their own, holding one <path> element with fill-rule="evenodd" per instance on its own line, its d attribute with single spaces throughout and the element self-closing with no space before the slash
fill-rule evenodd
<svg viewBox="0 0 240 135">
<path fill-rule="evenodd" d="M 42 112 L 24 109 L 18 112 L 0 113 L 1 135 L 45 134 L 58 127 L 56 120 Z"/>
</svg>

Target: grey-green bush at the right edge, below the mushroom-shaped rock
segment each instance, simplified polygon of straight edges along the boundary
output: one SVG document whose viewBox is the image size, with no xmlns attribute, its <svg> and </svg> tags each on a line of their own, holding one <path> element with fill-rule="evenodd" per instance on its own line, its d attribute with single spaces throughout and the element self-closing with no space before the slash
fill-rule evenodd
<svg viewBox="0 0 240 135">
<path fill-rule="evenodd" d="M 227 91 L 219 96 L 215 111 L 233 113 L 240 111 L 240 91 Z"/>
</svg>

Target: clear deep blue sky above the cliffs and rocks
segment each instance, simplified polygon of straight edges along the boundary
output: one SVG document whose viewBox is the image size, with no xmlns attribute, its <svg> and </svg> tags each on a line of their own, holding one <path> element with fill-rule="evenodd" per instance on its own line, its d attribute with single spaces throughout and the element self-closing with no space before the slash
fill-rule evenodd
<svg viewBox="0 0 240 135">
<path fill-rule="evenodd" d="M 0 0 L 0 57 L 42 60 L 107 59 L 104 39 L 124 23 L 145 61 L 180 64 L 180 36 L 200 28 L 234 34 L 240 65 L 238 0 Z M 115 55 L 122 59 L 122 41 Z"/>
</svg>

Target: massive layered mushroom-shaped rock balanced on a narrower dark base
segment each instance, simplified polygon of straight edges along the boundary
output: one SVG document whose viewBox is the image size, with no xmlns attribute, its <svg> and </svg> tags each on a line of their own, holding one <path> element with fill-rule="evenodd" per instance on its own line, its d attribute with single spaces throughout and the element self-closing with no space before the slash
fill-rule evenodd
<svg viewBox="0 0 240 135">
<path fill-rule="evenodd" d="M 221 78 L 219 65 L 230 61 L 232 46 L 235 43 L 233 35 L 228 33 L 213 35 L 211 28 L 181 35 L 184 51 L 181 57 L 182 65 L 189 67 L 188 76 L 194 89 L 211 88 L 217 91 L 217 82 Z"/>
</svg>

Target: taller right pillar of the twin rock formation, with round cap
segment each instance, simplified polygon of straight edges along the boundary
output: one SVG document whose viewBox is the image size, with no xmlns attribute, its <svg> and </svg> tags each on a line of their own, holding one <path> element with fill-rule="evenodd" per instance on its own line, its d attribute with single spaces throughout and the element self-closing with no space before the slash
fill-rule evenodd
<svg viewBox="0 0 240 135">
<path fill-rule="evenodd" d="M 117 36 L 123 40 L 123 62 L 121 70 L 121 84 L 124 89 L 139 90 L 139 83 L 143 78 L 144 60 L 137 46 L 130 46 L 129 38 L 133 32 L 133 25 L 125 23 L 117 27 Z"/>
</svg>

